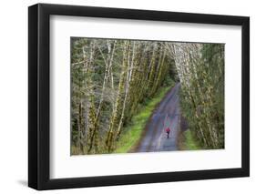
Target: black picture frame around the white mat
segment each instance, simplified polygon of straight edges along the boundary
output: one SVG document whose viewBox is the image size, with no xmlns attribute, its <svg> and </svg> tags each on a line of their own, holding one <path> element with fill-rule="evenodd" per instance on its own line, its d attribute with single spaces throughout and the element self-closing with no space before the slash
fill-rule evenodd
<svg viewBox="0 0 256 194">
<path fill-rule="evenodd" d="M 91 16 L 148 21 L 241 26 L 241 168 L 205 169 L 118 176 L 50 179 L 50 15 Z M 34 189 L 154 183 L 250 176 L 250 18 L 78 5 L 37 4 L 28 7 L 28 186 Z"/>
</svg>

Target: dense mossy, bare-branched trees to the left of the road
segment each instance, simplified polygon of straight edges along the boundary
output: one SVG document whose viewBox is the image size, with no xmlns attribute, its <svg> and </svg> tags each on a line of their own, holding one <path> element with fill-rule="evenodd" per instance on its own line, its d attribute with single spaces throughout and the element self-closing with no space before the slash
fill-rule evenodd
<svg viewBox="0 0 256 194">
<path fill-rule="evenodd" d="M 163 42 L 71 38 L 72 154 L 108 153 L 122 128 L 170 81 Z"/>
</svg>

